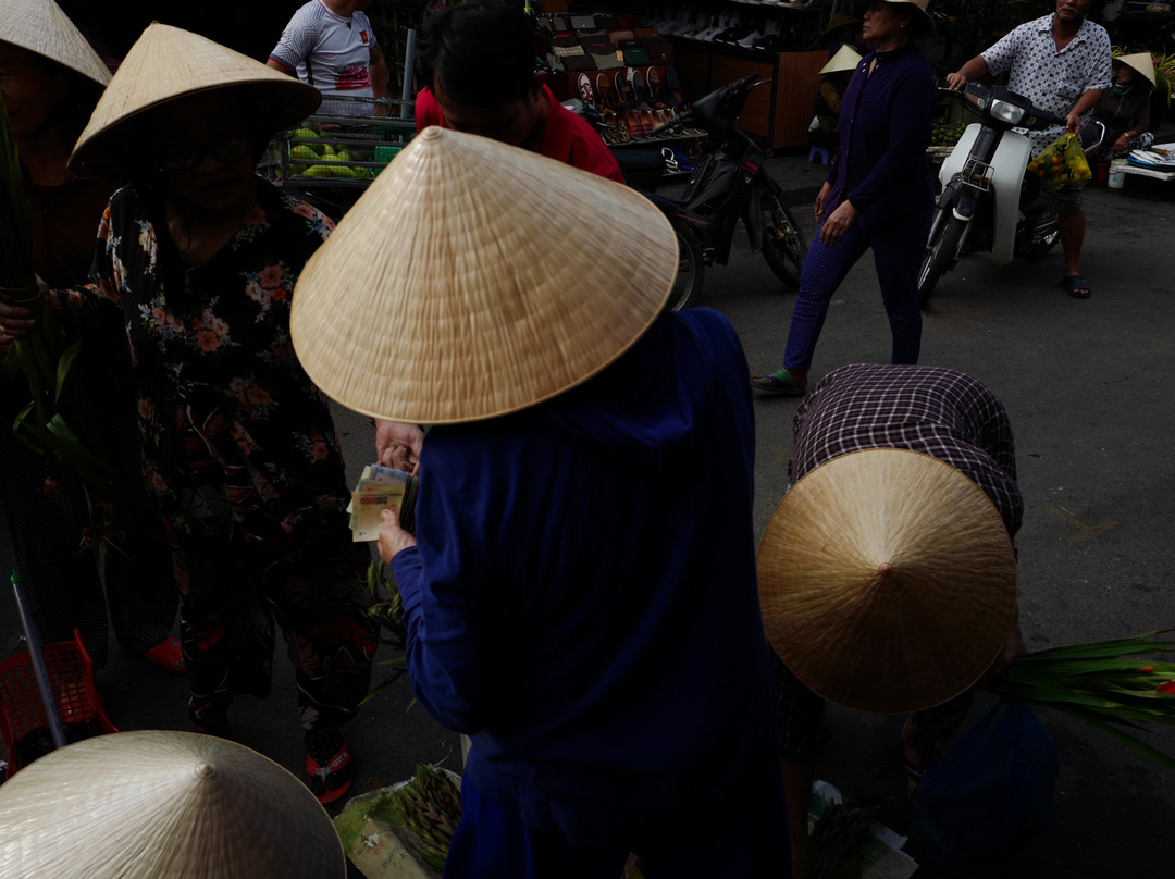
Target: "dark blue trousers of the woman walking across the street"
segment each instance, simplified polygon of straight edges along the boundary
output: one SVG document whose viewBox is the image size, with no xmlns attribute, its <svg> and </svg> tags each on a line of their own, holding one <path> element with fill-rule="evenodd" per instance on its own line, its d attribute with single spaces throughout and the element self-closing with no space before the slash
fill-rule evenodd
<svg viewBox="0 0 1175 879">
<path fill-rule="evenodd" d="M 820 228 L 824 228 L 821 223 Z M 853 223 L 837 244 L 820 242 L 819 233 L 808 248 L 800 273 L 800 291 L 787 333 L 784 365 L 807 371 L 817 340 L 828 315 L 828 303 L 848 270 L 873 248 L 881 301 L 893 334 L 891 363 L 918 363 L 922 347 L 922 313 L 918 304 L 918 266 L 926 250 L 929 224 L 887 232 L 866 232 Z"/>
</svg>

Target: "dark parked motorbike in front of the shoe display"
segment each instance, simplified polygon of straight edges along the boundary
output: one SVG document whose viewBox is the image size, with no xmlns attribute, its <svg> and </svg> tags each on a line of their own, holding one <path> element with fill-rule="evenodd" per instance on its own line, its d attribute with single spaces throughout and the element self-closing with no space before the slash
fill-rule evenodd
<svg viewBox="0 0 1175 879">
<path fill-rule="evenodd" d="M 651 129 L 654 139 L 674 132 L 701 133 L 697 156 L 669 147 L 612 148 L 629 184 L 660 208 L 677 234 L 680 263 L 667 306 L 672 310 L 687 308 L 697 300 L 707 266 L 728 263 L 739 220 L 746 227 L 752 253 L 761 253 L 787 288 L 799 287 L 807 242 L 784 203 L 783 189 L 764 167 L 766 154 L 738 125 L 752 89 L 768 82 L 760 73 L 752 73 L 698 99 Z M 686 161 L 694 167 L 680 199 L 657 193 L 658 182 Z"/>
</svg>

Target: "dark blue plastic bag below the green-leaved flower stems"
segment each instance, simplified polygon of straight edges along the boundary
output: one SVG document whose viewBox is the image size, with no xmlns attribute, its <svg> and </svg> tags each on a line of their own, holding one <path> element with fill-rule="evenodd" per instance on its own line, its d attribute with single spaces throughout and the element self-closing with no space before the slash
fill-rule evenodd
<svg viewBox="0 0 1175 879">
<path fill-rule="evenodd" d="M 926 853 L 951 866 L 1042 833 L 1060 765 L 1056 745 L 1032 709 L 998 703 L 914 790 Z"/>
</svg>

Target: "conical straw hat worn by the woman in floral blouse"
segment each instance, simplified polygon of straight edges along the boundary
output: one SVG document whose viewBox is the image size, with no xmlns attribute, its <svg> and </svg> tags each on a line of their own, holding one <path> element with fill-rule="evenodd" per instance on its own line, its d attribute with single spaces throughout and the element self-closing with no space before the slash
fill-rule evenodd
<svg viewBox="0 0 1175 879">
<path fill-rule="evenodd" d="M 128 120 L 177 98 L 230 86 L 250 87 L 270 130 L 306 119 L 322 102 L 314 86 L 203 36 L 156 22 L 143 31 L 110 79 L 69 156 L 70 173 L 93 177 L 119 170 L 119 153 L 142 146 L 128 140 Z"/>
</svg>

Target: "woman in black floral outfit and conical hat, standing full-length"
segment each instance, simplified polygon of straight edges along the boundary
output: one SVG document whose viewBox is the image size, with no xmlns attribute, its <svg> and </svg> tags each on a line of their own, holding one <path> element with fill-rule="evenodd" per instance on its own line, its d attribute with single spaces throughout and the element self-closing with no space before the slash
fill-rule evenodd
<svg viewBox="0 0 1175 879">
<path fill-rule="evenodd" d="M 202 67 L 174 72 L 160 99 L 150 92 L 168 83 L 136 65 L 140 47 Z M 263 86 L 249 85 L 250 66 Z M 194 34 L 149 27 L 106 94 L 121 116 L 102 119 L 99 105 L 70 159 L 76 174 L 122 160 L 134 182 L 106 208 L 92 283 L 54 298 L 67 322 L 126 327 L 195 730 L 226 734 L 235 696 L 268 695 L 276 619 L 296 664 L 310 785 L 325 803 L 350 783 L 340 724 L 368 691 L 375 640 L 335 427 L 289 336 L 294 284 L 331 223 L 253 173 L 278 121 L 316 106 L 302 88 L 317 95 Z"/>
</svg>

